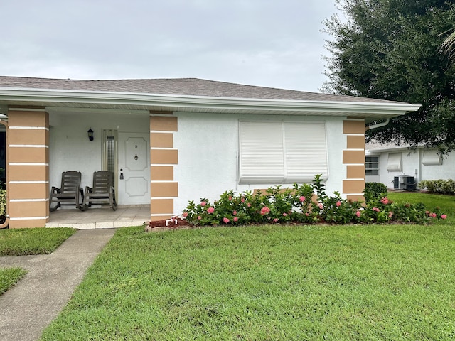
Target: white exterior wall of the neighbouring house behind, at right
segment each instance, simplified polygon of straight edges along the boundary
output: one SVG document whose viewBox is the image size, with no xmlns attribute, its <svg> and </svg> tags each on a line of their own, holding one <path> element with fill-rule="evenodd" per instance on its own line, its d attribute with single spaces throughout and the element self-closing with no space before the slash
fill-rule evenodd
<svg viewBox="0 0 455 341">
<path fill-rule="evenodd" d="M 377 153 L 371 151 L 371 155 L 379 156 L 379 176 L 367 176 L 367 181 L 383 183 L 387 188 L 393 188 L 395 176 L 400 175 L 413 176 L 417 184 L 422 180 L 453 179 L 455 156 L 449 154 L 442 161 L 441 165 L 425 166 L 422 164 L 422 158 L 426 150 L 424 148 L 418 148 L 416 150 L 397 148 L 395 151 L 378 151 Z M 387 159 L 390 153 L 401 153 L 402 171 L 387 171 Z"/>
</svg>

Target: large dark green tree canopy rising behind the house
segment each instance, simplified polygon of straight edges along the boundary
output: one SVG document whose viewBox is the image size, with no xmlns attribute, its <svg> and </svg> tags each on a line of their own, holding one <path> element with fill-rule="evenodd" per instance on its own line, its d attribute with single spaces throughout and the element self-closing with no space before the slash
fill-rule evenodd
<svg viewBox="0 0 455 341">
<path fill-rule="evenodd" d="M 367 139 L 455 145 L 455 66 L 441 44 L 455 23 L 454 1 L 336 0 L 346 16 L 328 18 L 328 82 L 323 92 L 422 104 Z M 445 36 L 444 36 L 444 33 Z"/>
</svg>

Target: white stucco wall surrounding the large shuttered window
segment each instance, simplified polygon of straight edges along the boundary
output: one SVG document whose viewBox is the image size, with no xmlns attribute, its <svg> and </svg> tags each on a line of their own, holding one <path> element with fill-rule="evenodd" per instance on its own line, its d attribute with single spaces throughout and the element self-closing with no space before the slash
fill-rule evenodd
<svg viewBox="0 0 455 341">
<path fill-rule="evenodd" d="M 325 180 L 327 180 L 326 193 L 328 194 L 333 193 L 333 191 L 343 193 L 342 184 L 343 180 L 346 180 L 347 166 L 358 166 L 343 164 L 343 151 L 347 149 L 348 144 L 346 134 L 343 134 L 343 118 L 292 116 L 268 116 L 264 118 L 264 116 L 259 117 L 257 115 L 183 112 L 174 114 L 178 117 L 178 132 L 173 136 L 173 148 L 178 149 L 178 164 L 173 167 L 173 181 L 178 182 L 178 197 L 174 199 L 174 213 L 176 214 L 183 211 L 188 205 L 188 200 L 198 201 L 201 197 L 207 197 L 213 201 L 218 199 L 220 194 L 226 190 L 242 193 L 245 190 L 282 185 L 272 183 L 265 185 L 238 184 L 239 119 L 260 119 L 262 121 L 267 119 L 289 122 L 326 121 L 329 175 L 328 179 Z M 363 124 L 363 126 L 365 125 Z M 358 134 L 358 136 L 361 135 Z M 357 140 L 360 139 L 357 138 Z M 350 141 L 351 147 L 359 147 L 358 144 L 359 141 Z M 364 150 L 360 153 L 363 153 L 364 163 Z M 350 170 L 350 176 L 359 176 L 358 169 Z M 357 179 L 352 178 L 352 183 L 358 183 Z M 360 183 L 365 184 L 364 177 Z M 354 190 L 357 191 L 358 189 L 354 188 Z M 358 192 L 348 192 L 348 195 L 351 193 Z M 346 197 L 346 193 L 342 195 Z"/>
</svg>

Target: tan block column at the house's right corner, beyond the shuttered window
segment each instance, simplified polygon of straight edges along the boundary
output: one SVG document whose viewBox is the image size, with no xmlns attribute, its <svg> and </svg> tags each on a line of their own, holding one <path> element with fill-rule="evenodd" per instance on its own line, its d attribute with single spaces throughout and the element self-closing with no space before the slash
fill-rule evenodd
<svg viewBox="0 0 455 341">
<path fill-rule="evenodd" d="M 343 194 L 348 200 L 365 201 L 365 120 L 346 119 L 343 121 L 346 149 L 343 151 L 343 165 L 346 165 L 346 180 L 343 180 Z"/>
</svg>

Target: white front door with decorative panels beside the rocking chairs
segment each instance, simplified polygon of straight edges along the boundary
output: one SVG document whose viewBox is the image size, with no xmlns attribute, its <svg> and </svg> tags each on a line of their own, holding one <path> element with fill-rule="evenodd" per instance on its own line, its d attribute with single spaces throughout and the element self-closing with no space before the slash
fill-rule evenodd
<svg viewBox="0 0 455 341">
<path fill-rule="evenodd" d="M 119 133 L 119 205 L 150 204 L 150 134 Z"/>
</svg>

